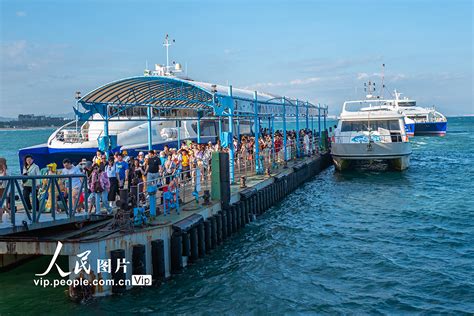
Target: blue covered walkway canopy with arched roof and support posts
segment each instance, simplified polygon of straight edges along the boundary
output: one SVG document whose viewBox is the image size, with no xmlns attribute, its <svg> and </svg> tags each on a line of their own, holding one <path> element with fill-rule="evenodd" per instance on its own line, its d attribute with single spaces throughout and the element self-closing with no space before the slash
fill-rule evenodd
<svg viewBox="0 0 474 316">
<path fill-rule="evenodd" d="M 317 117 L 320 122 L 321 116 L 324 117 L 324 121 L 327 116 L 327 106 L 321 107 L 307 101 L 302 102 L 268 93 L 236 89 L 232 86 L 163 76 L 139 76 L 114 81 L 89 92 L 78 100 L 78 104 L 84 110 L 75 109 L 79 120 L 88 120 L 92 115 L 100 114 L 105 122 L 104 135 L 107 138 L 109 135 L 108 121 L 111 118 L 118 118 L 120 113 L 130 108 L 146 107 L 149 149 L 152 145 L 151 122 L 170 119 L 167 114 L 171 110 L 191 110 L 187 113 L 192 112 L 197 120 L 204 116 L 228 117 L 228 135 L 231 139 L 233 120 L 244 117 L 251 118 L 255 123 L 257 144 L 260 132 L 259 122 L 262 118 L 268 118 L 271 122 L 276 117 L 282 118 L 284 134 L 286 134 L 287 117 L 296 118 L 296 128 L 299 130 L 300 117 L 306 119 L 306 128 L 309 128 L 309 118 Z M 173 117 L 173 119 L 179 120 L 178 117 Z M 319 135 L 321 135 L 320 128 Z M 219 137 L 221 136 L 220 134 Z M 198 130 L 198 140 L 199 137 Z M 283 138 L 286 150 L 286 137 Z M 256 147 L 258 156 L 258 146 Z M 230 146 L 229 149 L 233 154 L 233 146 Z"/>
</svg>

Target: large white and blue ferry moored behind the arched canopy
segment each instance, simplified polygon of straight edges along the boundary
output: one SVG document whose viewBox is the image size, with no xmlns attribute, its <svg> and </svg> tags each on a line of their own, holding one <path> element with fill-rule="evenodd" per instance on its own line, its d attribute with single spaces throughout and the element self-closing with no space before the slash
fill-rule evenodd
<svg viewBox="0 0 474 316">
<path fill-rule="evenodd" d="M 180 64 L 169 65 L 168 47 L 171 45 L 168 37 L 163 44 L 167 50 L 167 65 L 155 65 L 155 70 L 145 69 L 143 77 L 166 77 L 172 81 L 189 82 L 193 86 L 206 90 L 216 91 L 227 94 L 228 87 L 206 82 L 191 80 L 181 76 Z M 141 80 L 143 77 L 133 77 L 122 79 L 124 82 L 130 80 Z M 120 80 L 119 80 L 120 81 Z M 98 89 L 101 89 L 99 87 Z M 96 90 L 98 90 L 96 89 Z M 94 90 L 94 91 L 96 91 Z M 94 93 L 92 91 L 91 93 Z M 233 89 L 234 96 L 253 97 L 253 91 L 243 89 Z M 262 99 L 271 99 L 274 96 L 258 93 Z M 80 99 L 80 96 L 77 96 Z M 176 101 L 178 102 L 178 101 Z M 108 135 L 110 138 L 111 152 L 120 152 L 126 150 L 130 156 L 137 156 L 140 151 L 148 149 L 148 123 L 147 106 L 134 106 L 125 110 L 119 110 L 117 107 L 109 107 L 108 115 L 111 117 L 108 121 Z M 153 109 L 155 111 L 155 109 Z M 199 121 L 198 138 L 198 120 L 195 119 L 189 109 L 173 109 L 168 113 L 161 113 L 161 121 L 152 121 L 151 130 L 153 133 L 153 149 L 161 150 L 165 145 L 179 148 L 179 141 L 197 141 L 215 143 L 219 134 L 219 122 L 214 119 L 203 118 Z M 194 118 L 194 119 L 192 119 Z M 228 129 L 228 120 L 222 120 L 222 130 Z M 235 123 L 234 123 L 235 124 Z M 241 135 L 250 134 L 253 129 L 253 123 L 250 120 L 240 120 L 238 130 Z M 237 127 L 234 126 L 234 130 Z M 78 163 L 82 158 L 92 158 L 97 150 L 101 149 L 101 139 L 104 137 L 104 122 L 100 114 L 93 114 L 88 120 L 74 120 L 55 130 L 48 138 L 47 143 L 19 150 L 20 165 L 26 155 L 32 155 L 35 163 L 40 167 L 45 167 L 51 162 L 62 164 L 64 158 L 69 158 L 73 163 Z"/>
</svg>

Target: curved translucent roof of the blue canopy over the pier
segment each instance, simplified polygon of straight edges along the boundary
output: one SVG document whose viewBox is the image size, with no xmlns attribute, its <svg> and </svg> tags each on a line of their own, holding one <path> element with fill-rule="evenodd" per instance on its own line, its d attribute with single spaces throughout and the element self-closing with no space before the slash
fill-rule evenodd
<svg viewBox="0 0 474 316">
<path fill-rule="evenodd" d="M 222 115 L 224 113 L 222 105 L 224 105 L 234 107 L 237 112 L 240 109 L 241 113 L 253 112 L 254 91 L 232 88 L 232 99 L 230 99 L 229 90 L 227 86 L 177 77 L 131 77 L 108 83 L 83 96 L 78 103 L 83 106 L 86 113 L 76 111 L 76 114 L 86 118 L 93 113 L 99 113 L 104 117 L 107 106 L 209 110 L 214 114 Z M 295 106 L 294 100 L 268 93 L 256 93 L 259 114 L 282 112 L 280 109 L 283 108 L 282 100 L 290 107 Z M 312 109 L 311 114 L 315 113 L 314 109 L 317 106 L 309 103 L 305 103 L 305 106 Z M 290 110 L 286 114 L 291 115 L 292 112 L 295 111 Z M 305 115 L 302 109 L 298 112 Z"/>
</svg>

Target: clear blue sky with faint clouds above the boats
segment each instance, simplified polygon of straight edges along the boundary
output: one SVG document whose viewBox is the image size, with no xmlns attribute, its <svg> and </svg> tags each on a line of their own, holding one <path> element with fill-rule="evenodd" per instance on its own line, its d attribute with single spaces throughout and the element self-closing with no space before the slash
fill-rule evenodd
<svg viewBox="0 0 474 316">
<path fill-rule="evenodd" d="M 338 114 L 385 64 L 385 97 L 474 114 L 473 23 L 471 0 L 0 0 L 0 117 L 70 113 L 76 91 L 165 63 L 166 34 L 195 80 Z"/>
</svg>

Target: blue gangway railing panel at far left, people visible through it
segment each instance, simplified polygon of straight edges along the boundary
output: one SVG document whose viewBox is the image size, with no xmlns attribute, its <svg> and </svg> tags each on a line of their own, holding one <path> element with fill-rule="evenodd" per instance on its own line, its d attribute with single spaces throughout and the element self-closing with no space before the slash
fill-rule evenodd
<svg viewBox="0 0 474 316">
<path fill-rule="evenodd" d="M 73 183 L 74 179 L 80 184 L 77 180 Z M 58 214 L 73 218 L 78 208 L 88 209 L 85 175 L 4 176 L 0 177 L 0 183 L 5 186 L 0 210 L 9 213 L 13 226 L 19 225 L 16 221 L 19 213 L 26 215 L 29 220 L 26 224 L 37 224 L 45 213 L 50 213 L 54 221 Z"/>
</svg>

